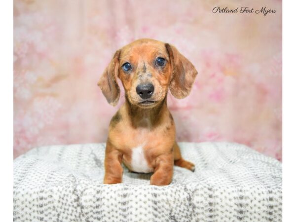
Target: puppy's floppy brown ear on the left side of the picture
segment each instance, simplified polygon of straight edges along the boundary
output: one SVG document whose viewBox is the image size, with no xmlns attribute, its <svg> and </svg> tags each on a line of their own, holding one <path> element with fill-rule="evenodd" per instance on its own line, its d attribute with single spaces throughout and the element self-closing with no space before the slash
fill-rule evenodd
<svg viewBox="0 0 296 222">
<path fill-rule="evenodd" d="M 118 76 L 119 56 L 120 51 L 118 50 L 115 52 L 113 59 L 98 82 L 98 86 L 100 86 L 108 103 L 112 106 L 117 105 L 120 95 L 120 89 L 116 79 Z"/>
</svg>

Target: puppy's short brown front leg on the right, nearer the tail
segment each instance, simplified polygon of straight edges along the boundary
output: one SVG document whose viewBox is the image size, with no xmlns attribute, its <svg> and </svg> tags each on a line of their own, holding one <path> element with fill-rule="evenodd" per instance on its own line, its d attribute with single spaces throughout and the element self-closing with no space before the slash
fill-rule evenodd
<svg viewBox="0 0 296 222">
<path fill-rule="evenodd" d="M 162 154 L 156 158 L 154 174 L 150 178 L 150 185 L 169 185 L 172 182 L 174 170 L 173 153 Z"/>
</svg>

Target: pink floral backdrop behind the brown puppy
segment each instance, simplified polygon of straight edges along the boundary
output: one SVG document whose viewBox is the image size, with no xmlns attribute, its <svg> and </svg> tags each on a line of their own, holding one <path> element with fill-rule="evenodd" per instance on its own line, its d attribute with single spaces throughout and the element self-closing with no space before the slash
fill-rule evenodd
<svg viewBox="0 0 296 222">
<path fill-rule="evenodd" d="M 281 160 L 279 0 L 15 0 L 14 157 L 105 142 L 124 97 L 111 107 L 97 81 L 116 49 L 142 37 L 174 44 L 199 73 L 187 98 L 168 98 L 178 141 L 237 142 Z"/>
</svg>

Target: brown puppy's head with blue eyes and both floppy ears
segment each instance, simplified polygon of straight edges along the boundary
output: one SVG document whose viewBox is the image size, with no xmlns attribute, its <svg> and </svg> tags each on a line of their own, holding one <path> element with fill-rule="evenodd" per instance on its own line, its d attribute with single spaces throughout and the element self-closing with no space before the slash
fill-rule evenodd
<svg viewBox="0 0 296 222">
<path fill-rule="evenodd" d="M 115 106 L 122 81 L 132 105 L 152 108 L 164 100 L 168 89 L 178 99 L 186 97 L 197 71 L 172 45 L 153 39 L 139 39 L 116 51 L 98 85 Z"/>
</svg>

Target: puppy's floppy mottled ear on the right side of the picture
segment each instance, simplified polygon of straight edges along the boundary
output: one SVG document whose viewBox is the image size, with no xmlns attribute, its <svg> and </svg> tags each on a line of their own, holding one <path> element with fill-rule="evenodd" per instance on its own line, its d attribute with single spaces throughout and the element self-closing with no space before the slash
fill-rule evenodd
<svg viewBox="0 0 296 222">
<path fill-rule="evenodd" d="M 172 66 L 172 80 L 170 90 L 174 97 L 183 99 L 189 95 L 197 71 L 174 46 L 166 43 L 165 47 L 169 53 Z"/>
</svg>

